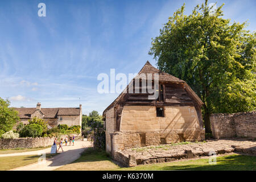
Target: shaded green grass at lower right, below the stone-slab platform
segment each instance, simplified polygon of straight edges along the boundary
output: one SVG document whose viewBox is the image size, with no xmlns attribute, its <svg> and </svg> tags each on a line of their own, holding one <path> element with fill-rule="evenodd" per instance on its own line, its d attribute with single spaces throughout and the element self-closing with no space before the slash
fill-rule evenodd
<svg viewBox="0 0 256 182">
<path fill-rule="evenodd" d="M 200 161 L 201 160 L 201 161 Z M 160 167 L 160 170 L 195 170 L 195 171 L 228 171 L 228 170 L 256 170 L 256 156 L 229 155 L 217 158 L 217 164 L 209 164 L 208 159 L 199 159 L 198 164 L 175 164 Z M 193 163 L 192 161 L 190 163 Z"/>
</svg>

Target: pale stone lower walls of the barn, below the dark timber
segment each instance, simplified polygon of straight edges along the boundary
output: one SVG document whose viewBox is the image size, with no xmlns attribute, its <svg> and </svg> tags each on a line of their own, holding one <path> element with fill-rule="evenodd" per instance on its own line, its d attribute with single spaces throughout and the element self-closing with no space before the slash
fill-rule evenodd
<svg viewBox="0 0 256 182">
<path fill-rule="evenodd" d="M 106 112 L 106 152 L 114 155 L 115 151 L 143 145 L 204 140 L 205 131 L 200 129 L 195 107 L 166 106 L 164 113 L 165 117 L 156 117 L 155 106 L 124 106 L 120 131 L 116 132 L 114 107 L 109 109 Z"/>
</svg>

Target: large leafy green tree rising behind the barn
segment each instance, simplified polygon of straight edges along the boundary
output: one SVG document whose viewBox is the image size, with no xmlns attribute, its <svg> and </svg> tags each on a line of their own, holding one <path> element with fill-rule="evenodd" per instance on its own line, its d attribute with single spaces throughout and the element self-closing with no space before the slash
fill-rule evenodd
<svg viewBox="0 0 256 182">
<path fill-rule="evenodd" d="M 181 6 L 149 51 L 160 70 L 183 79 L 200 96 L 207 133 L 210 113 L 256 108 L 256 34 L 245 30 L 246 23 L 222 18 L 222 6 L 214 10 L 205 1 L 191 15 Z"/>
</svg>

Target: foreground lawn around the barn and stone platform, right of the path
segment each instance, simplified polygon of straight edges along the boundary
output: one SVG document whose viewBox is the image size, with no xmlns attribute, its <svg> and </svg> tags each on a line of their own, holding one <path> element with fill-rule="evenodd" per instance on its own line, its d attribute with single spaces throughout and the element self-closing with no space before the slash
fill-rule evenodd
<svg viewBox="0 0 256 182">
<path fill-rule="evenodd" d="M 217 164 L 208 162 L 209 159 L 194 159 L 122 168 L 111 162 L 105 152 L 89 149 L 75 162 L 57 170 L 256 170 L 256 156 L 225 155 L 217 157 Z"/>
</svg>

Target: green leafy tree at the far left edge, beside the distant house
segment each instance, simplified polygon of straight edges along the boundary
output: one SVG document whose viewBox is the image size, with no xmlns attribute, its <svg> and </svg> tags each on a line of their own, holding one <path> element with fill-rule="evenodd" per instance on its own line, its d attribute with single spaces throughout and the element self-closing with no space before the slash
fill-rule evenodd
<svg viewBox="0 0 256 182">
<path fill-rule="evenodd" d="M 0 130 L 10 131 L 17 121 L 19 121 L 18 112 L 10 108 L 10 101 L 0 97 Z"/>
</svg>

